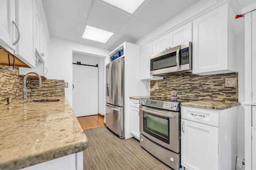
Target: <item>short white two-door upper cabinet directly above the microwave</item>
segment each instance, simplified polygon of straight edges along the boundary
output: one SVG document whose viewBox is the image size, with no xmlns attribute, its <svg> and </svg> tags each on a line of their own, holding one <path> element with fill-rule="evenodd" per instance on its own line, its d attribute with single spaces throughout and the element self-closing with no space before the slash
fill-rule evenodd
<svg viewBox="0 0 256 170">
<path fill-rule="evenodd" d="M 153 54 L 186 42 L 192 42 L 192 22 L 182 25 L 170 33 L 153 41 Z"/>
</svg>

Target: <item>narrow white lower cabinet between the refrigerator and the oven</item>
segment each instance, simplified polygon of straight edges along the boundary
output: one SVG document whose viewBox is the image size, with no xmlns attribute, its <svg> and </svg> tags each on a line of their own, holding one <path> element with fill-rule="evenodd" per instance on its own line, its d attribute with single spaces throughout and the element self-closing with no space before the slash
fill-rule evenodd
<svg viewBox="0 0 256 170">
<path fill-rule="evenodd" d="M 140 140 L 139 100 L 130 99 L 130 132 Z"/>
</svg>

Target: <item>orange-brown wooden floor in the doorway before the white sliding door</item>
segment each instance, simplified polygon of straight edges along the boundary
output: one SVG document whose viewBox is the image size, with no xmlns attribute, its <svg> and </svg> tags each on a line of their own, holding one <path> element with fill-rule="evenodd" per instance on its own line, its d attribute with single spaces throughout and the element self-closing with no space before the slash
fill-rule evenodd
<svg viewBox="0 0 256 170">
<path fill-rule="evenodd" d="M 77 117 L 77 119 L 82 129 L 104 126 L 104 117 L 100 115 Z"/>
</svg>

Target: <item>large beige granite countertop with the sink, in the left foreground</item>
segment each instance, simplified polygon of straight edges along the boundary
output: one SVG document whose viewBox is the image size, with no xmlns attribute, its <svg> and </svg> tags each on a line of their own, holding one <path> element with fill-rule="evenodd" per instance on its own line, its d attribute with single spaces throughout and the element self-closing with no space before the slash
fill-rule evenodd
<svg viewBox="0 0 256 170">
<path fill-rule="evenodd" d="M 88 139 L 68 100 L 58 99 L 0 106 L 1 170 L 25 168 L 87 148 Z"/>
</svg>

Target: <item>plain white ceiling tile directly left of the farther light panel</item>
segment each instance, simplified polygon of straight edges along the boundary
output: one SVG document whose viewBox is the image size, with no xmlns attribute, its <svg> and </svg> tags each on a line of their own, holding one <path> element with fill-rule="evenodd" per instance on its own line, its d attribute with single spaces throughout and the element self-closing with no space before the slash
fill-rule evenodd
<svg viewBox="0 0 256 170">
<path fill-rule="evenodd" d="M 84 23 L 70 20 L 62 16 L 58 16 L 52 12 L 48 12 L 50 30 L 59 33 L 71 35 L 74 37 L 82 37 Z"/>
</svg>

